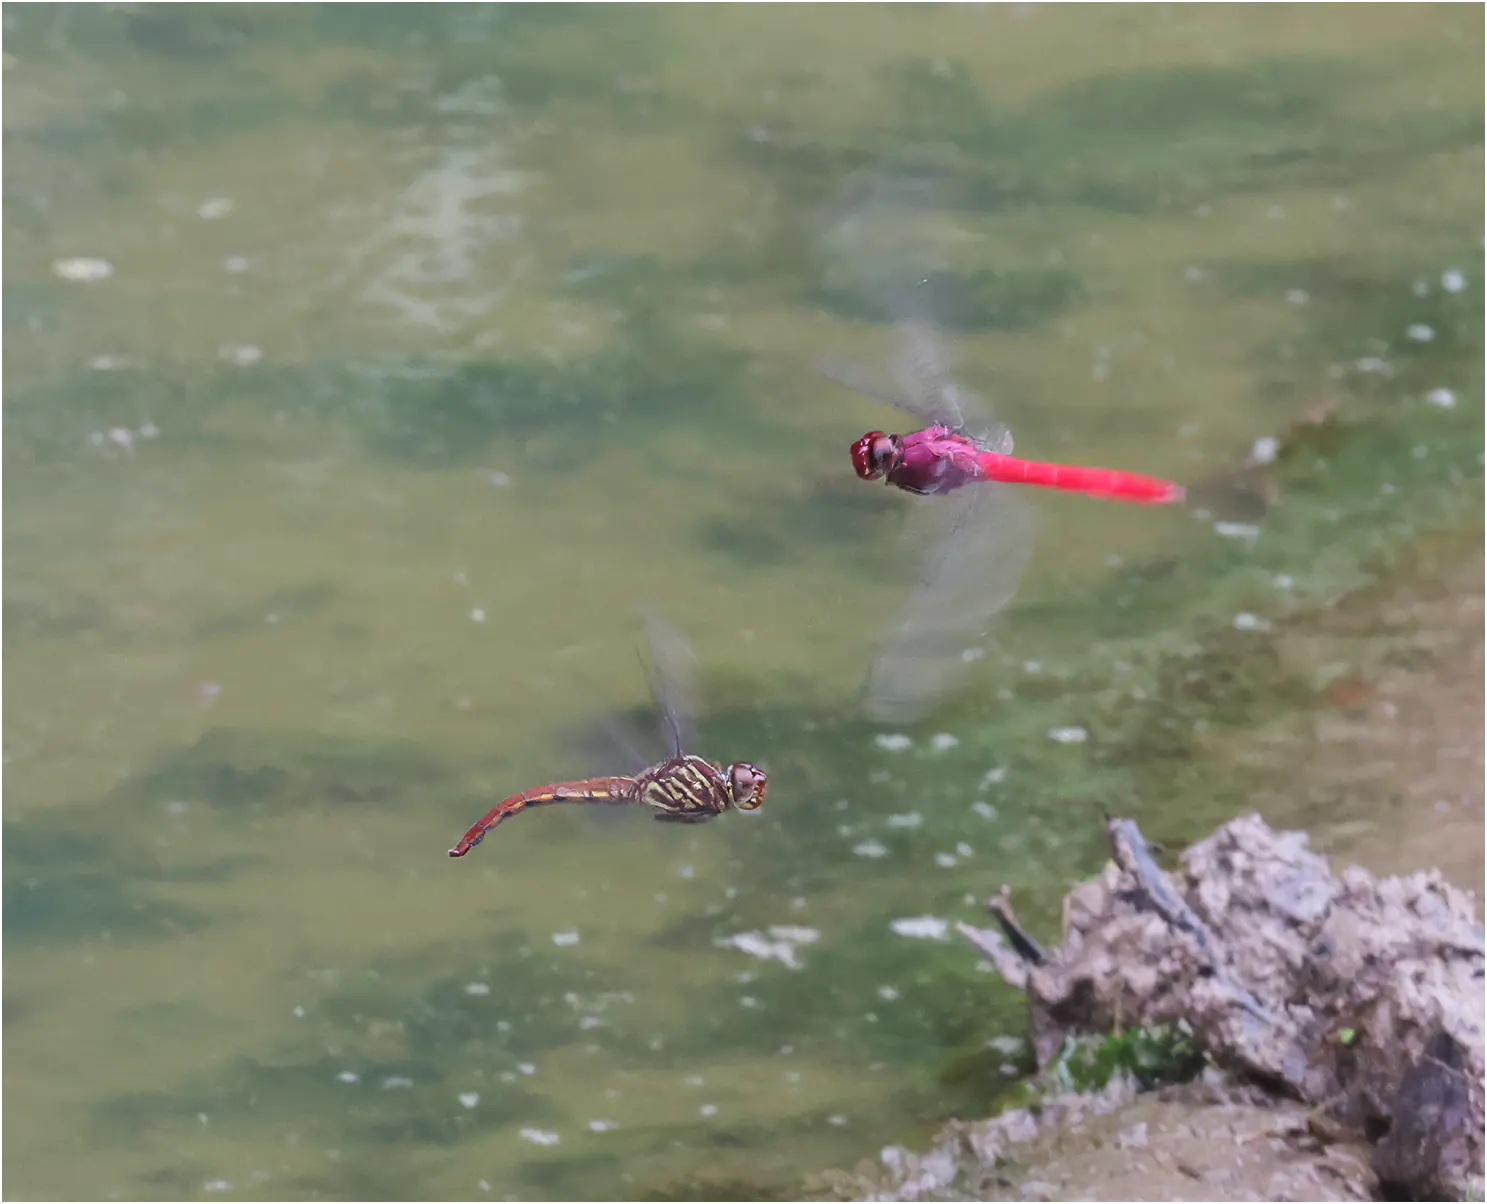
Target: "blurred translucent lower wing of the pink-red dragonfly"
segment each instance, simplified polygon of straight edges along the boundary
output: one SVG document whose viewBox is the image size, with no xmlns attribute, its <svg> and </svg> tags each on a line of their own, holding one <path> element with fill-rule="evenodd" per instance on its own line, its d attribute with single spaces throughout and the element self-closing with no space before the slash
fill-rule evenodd
<svg viewBox="0 0 1487 1204">
<path fill-rule="evenodd" d="M 910 528 L 913 546 L 929 543 L 931 529 L 937 538 L 862 685 L 862 708 L 879 722 L 913 722 L 955 688 L 1032 551 L 1032 511 L 1007 486 L 965 486 L 916 505 L 923 519 Z"/>
</svg>

